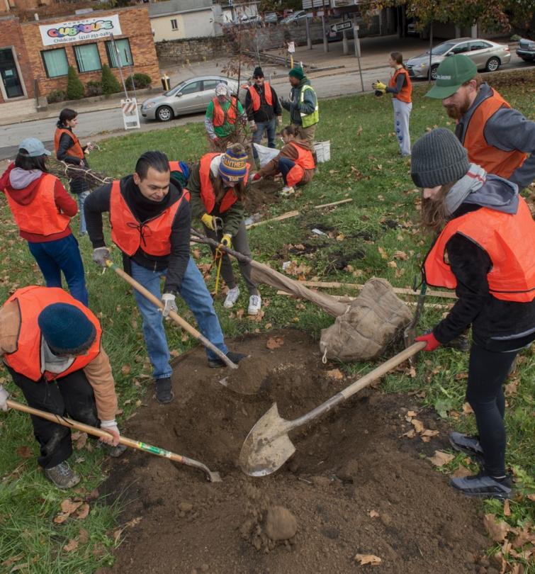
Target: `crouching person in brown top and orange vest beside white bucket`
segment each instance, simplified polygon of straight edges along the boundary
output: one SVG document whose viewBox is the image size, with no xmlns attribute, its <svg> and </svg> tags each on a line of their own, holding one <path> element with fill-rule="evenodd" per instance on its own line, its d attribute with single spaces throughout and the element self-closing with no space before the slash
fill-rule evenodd
<svg viewBox="0 0 535 574">
<path fill-rule="evenodd" d="M 284 147 L 277 157 L 271 159 L 253 176 L 253 181 L 261 177 L 282 174 L 284 187 L 281 196 L 288 197 L 295 192 L 294 186 L 308 184 L 314 176 L 315 163 L 310 151 L 310 144 L 297 137 L 293 125 L 281 130 Z"/>
</svg>

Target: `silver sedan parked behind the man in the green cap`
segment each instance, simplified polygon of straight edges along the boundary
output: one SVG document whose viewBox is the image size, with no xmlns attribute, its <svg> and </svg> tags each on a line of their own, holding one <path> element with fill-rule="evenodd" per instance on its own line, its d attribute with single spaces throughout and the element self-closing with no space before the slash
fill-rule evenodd
<svg viewBox="0 0 535 574">
<path fill-rule="evenodd" d="M 431 51 L 431 78 L 437 79 L 437 68 L 440 62 L 448 56 L 464 54 L 468 56 L 479 70 L 495 72 L 503 64 L 511 60 L 511 52 L 507 44 L 498 44 L 479 38 L 456 38 L 448 40 Z M 429 77 L 429 51 L 407 60 L 407 70 L 412 78 Z"/>
</svg>

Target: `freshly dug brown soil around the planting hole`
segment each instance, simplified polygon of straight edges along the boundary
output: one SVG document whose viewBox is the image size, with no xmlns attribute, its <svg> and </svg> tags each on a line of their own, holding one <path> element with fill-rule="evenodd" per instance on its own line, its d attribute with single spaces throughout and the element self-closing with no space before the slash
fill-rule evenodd
<svg viewBox="0 0 535 574">
<path fill-rule="evenodd" d="M 490 541 L 477 503 L 455 493 L 423 456 L 447 447 L 447 429 L 434 412 L 420 411 L 419 421 L 439 434 L 427 443 L 402 437 L 413 426 L 407 411 L 417 410 L 406 395 L 362 390 L 293 431 L 296 452 L 278 472 L 242 473 L 242 443 L 272 403 L 294 419 L 351 381 L 323 365 L 317 342 L 296 330 L 231 347 L 252 355 L 244 371 L 263 378 L 252 383 L 258 394 L 220 385 L 229 376 L 247 390 L 247 377 L 208 368 L 196 349 L 176 365 L 174 403 L 157 405 L 147 393 L 147 406 L 124 429 L 202 461 L 223 482 L 137 451 L 111 460 L 100 490 L 108 502 L 119 498 L 127 526 L 115 565 L 99 573 L 351 573 L 377 563 L 372 569 L 382 573 L 495 574 L 482 558 Z"/>
</svg>

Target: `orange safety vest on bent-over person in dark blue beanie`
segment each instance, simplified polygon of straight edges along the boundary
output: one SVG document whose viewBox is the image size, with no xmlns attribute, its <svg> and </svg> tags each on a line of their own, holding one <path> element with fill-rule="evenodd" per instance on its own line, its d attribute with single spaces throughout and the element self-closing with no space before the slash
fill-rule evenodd
<svg viewBox="0 0 535 574">
<path fill-rule="evenodd" d="M 43 376 L 47 381 L 52 381 L 55 378 L 64 377 L 69 373 L 79 371 L 81 368 L 89 365 L 100 353 L 102 329 L 98 319 L 85 305 L 63 291 L 63 289 L 34 285 L 24 287 L 17 289 L 4 305 L 11 301 L 17 302 L 18 311 L 21 314 L 21 326 L 18 330 L 16 351 L 4 354 L 4 362 L 13 371 L 21 373 L 21 375 L 32 381 L 40 381 Z M 68 303 L 79 308 L 96 329 L 96 337 L 94 342 L 91 343 L 89 350 L 83 355 L 77 356 L 72 365 L 62 373 L 43 371 L 43 365 L 41 365 L 41 330 L 38 325 L 38 317 L 41 311 L 48 305 L 52 305 L 52 303 Z"/>
</svg>

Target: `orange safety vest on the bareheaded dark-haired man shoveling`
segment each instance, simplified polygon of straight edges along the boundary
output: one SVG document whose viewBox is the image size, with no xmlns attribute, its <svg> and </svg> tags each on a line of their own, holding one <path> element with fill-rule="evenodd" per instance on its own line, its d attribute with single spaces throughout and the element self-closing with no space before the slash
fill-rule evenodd
<svg viewBox="0 0 535 574">
<path fill-rule="evenodd" d="M 189 201 L 189 192 L 186 189 L 179 199 L 162 213 L 140 223 L 120 193 L 120 181 L 113 181 L 110 197 L 111 239 L 128 257 L 132 257 L 140 247 L 146 254 L 154 257 L 169 255 L 171 227 L 183 199 Z"/>
</svg>

